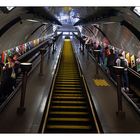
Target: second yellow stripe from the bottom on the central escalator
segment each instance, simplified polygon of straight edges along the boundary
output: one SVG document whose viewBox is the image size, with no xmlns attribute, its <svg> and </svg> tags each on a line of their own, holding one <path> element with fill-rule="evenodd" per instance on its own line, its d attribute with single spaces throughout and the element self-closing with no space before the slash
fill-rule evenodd
<svg viewBox="0 0 140 140">
<path fill-rule="evenodd" d="M 49 121 L 83 121 L 88 122 L 87 118 L 49 118 Z"/>
</svg>

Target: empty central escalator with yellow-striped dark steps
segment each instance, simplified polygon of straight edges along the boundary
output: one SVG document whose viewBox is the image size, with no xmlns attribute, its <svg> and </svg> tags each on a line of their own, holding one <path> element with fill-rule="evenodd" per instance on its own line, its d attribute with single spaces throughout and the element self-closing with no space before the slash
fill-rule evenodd
<svg viewBox="0 0 140 140">
<path fill-rule="evenodd" d="M 100 133 L 81 82 L 71 41 L 65 39 L 43 133 Z"/>
</svg>

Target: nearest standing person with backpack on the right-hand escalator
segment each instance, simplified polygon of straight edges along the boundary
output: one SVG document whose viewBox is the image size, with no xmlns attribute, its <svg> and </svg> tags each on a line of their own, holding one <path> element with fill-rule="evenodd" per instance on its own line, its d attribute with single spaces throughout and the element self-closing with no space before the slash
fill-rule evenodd
<svg viewBox="0 0 140 140">
<path fill-rule="evenodd" d="M 129 82 L 128 82 L 128 61 L 123 57 L 122 54 L 119 54 L 118 59 L 116 60 L 117 66 L 124 67 L 123 73 L 122 73 L 122 86 L 123 90 L 129 91 Z"/>
</svg>

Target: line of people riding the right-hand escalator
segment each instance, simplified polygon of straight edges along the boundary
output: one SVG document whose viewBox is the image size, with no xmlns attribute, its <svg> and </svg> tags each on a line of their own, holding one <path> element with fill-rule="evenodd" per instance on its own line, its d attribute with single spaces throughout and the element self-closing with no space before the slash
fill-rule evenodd
<svg viewBox="0 0 140 140">
<path fill-rule="evenodd" d="M 94 50 L 99 50 L 98 53 L 98 63 L 105 69 L 105 71 L 110 75 L 110 77 L 115 81 L 115 69 L 113 66 L 124 67 L 123 73 L 121 75 L 122 87 L 125 91 L 129 91 L 129 80 L 128 80 L 128 61 L 122 55 L 122 52 L 119 52 L 119 55 L 115 54 L 114 48 L 110 48 L 109 45 L 103 44 L 102 42 L 96 42 L 90 37 L 85 37 L 85 47 L 87 51 L 95 56 Z"/>
</svg>

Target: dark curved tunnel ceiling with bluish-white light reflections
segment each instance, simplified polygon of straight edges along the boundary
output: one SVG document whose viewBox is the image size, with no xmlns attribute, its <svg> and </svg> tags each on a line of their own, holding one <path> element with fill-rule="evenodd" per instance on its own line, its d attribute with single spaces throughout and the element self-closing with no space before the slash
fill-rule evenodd
<svg viewBox="0 0 140 140">
<path fill-rule="evenodd" d="M 16 17 L 58 25 L 106 24 L 125 20 L 140 29 L 140 18 L 131 7 L 16 7 L 9 13 L 0 13 L 0 29 Z"/>
</svg>

